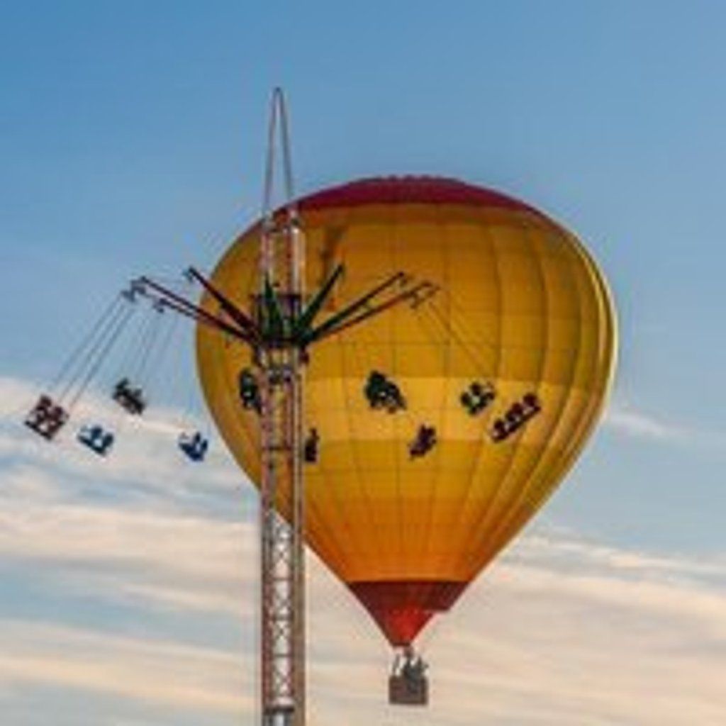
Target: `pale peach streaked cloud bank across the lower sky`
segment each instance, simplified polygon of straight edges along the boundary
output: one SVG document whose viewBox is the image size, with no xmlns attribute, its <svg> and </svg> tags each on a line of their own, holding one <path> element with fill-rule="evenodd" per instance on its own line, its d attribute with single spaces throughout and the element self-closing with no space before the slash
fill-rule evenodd
<svg viewBox="0 0 726 726">
<path fill-rule="evenodd" d="M 32 390 L 0 381 L 2 400 L 13 396 Z M 0 482 L 8 723 L 255 722 L 255 512 L 221 446 L 195 468 L 164 425 L 129 428 L 99 462 L 70 438 L 37 444 L 6 418 Z M 316 726 L 726 723 L 725 558 L 535 526 L 423 637 L 425 711 L 386 705 L 386 645 L 310 563 Z"/>
</svg>

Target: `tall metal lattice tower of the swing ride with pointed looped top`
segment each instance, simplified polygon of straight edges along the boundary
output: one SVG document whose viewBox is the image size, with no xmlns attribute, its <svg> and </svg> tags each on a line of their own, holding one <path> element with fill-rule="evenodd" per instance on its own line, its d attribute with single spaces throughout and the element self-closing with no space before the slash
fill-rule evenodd
<svg viewBox="0 0 726 726">
<path fill-rule="evenodd" d="M 285 204 L 272 211 L 279 137 Z M 272 96 L 259 256 L 258 326 L 271 330 L 300 315 L 305 240 L 293 204 L 293 175 L 285 99 Z M 268 319 L 274 291 L 280 319 Z M 283 333 L 256 351 L 260 371 L 261 707 L 262 726 L 305 724 L 305 509 L 301 348 Z M 277 338 L 277 342 L 276 342 Z"/>
</svg>

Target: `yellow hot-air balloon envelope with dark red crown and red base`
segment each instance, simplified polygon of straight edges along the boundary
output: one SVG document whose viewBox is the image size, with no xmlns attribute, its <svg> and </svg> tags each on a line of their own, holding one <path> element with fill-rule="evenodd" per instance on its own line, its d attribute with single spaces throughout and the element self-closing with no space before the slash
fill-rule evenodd
<svg viewBox="0 0 726 726">
<path fill-rule="evenodd" d="M 439 287 L 314 344 L 306 371 L 307 425 L 320 437 L 306 465 L 307 542 L 391 643 L 409 643 L 542 506 L 592 431 L 613 370 L 611 299 L 572 234 L 488 189 L 368 179 L 300 210 L 309 292 L 345 266 L 321 319 L 399 270 Z M 213 274 L 247 309 L 258 238 L 257 226 L 242 234 Z M 197 354 L 213 417 L 258 481 L 258 416 L 237 399 L 250 354 L 203 327 Z M 399 386 L 404 410 L 370 406 L 372 371 Z M 473 415 L 462 393 L 477 382 L 496 395 Z M 539 412 L 494 441 L 523 399 Z M 421 425 L 436 444 L 411 457 Z"/>
</svg>

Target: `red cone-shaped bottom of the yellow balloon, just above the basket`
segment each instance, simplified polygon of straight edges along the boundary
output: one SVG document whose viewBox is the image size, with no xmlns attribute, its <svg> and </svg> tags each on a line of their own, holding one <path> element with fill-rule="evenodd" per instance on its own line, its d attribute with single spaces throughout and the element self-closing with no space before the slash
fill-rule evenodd
<svg viewBox="0 0 726 726">
<path fill-rule="evenodd" d="M 468 582 L 453 580 L 377 580 L 348 582 L 395 648 L 411 645 L 436 613 L 452 607 Z"/>
</svg>

